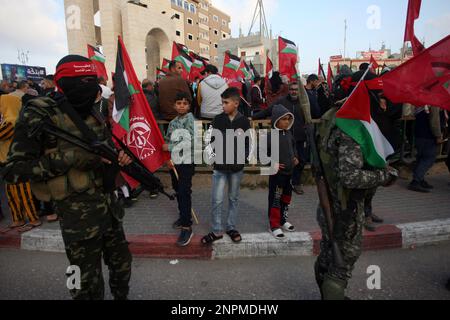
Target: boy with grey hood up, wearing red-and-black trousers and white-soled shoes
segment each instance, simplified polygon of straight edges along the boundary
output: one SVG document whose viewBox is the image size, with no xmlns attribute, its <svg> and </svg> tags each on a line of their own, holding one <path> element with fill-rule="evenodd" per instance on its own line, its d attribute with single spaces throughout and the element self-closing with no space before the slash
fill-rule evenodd
<svg viewBox="0 0 450 320">
<path fill-rule="evenodd" d="M 289 205 L 292 198 L 292 174 L 299 164 L 295 139 L 290 131 L 294 123 L 294 115 L 282 105 L 275 105 L 272 111 L 272 130 L 277 130 L 279 160 L 276 165 L 277 174 L 269 179 L 269 220 L 272 235 L 279 240 L 285 238 L 283 230 L 294 232 L 295 228 L 288 219 Z M 273 133 L 271 134 L 273 135 Z M 271 141 L 269 139 L 268 141 Z M 271 145 L 273 159 L 274 148 Z"/>
</svg>

